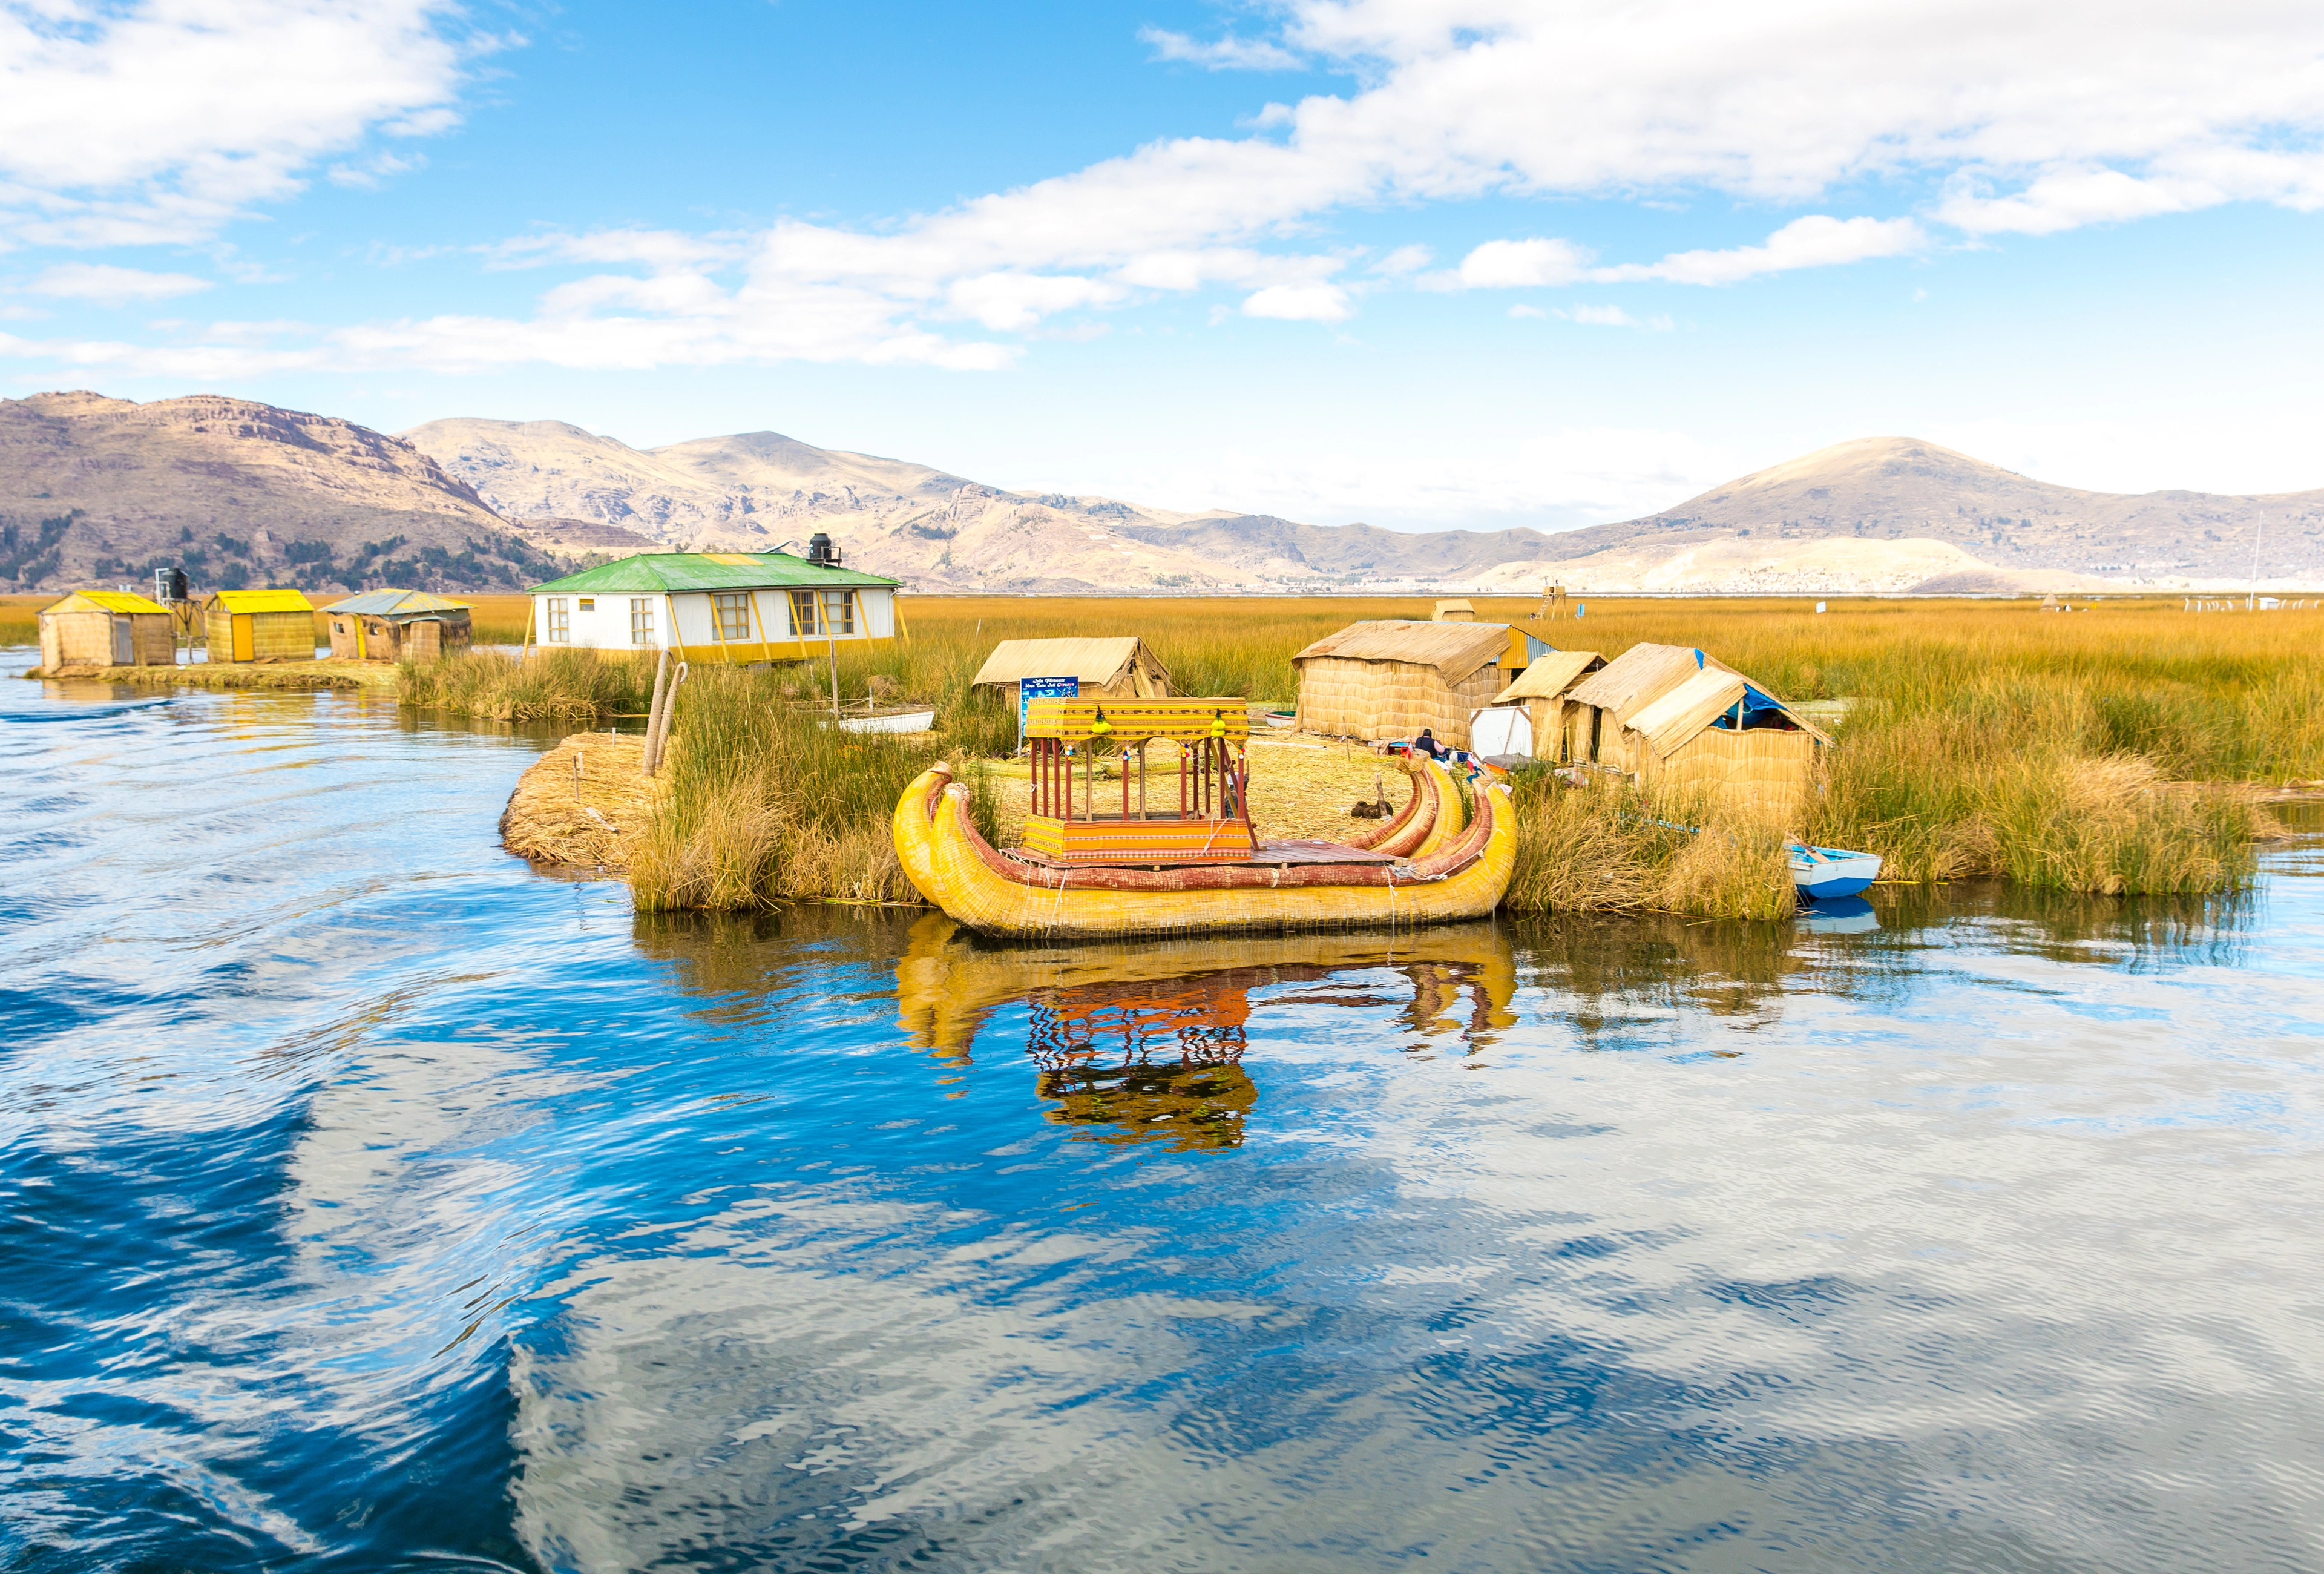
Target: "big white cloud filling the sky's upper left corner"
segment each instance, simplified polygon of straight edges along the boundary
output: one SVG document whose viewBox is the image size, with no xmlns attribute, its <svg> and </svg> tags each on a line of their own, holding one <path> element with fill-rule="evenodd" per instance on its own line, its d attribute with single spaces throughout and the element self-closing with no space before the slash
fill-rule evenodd
<svg viewBox="0 0 2324 1574">
<path fill-rule="evenodd" d="M 453 123 L 446 0 L 0 7 L 0 223 L 19 242 L 188 242 L 370 135 Z M 393 156 L 344 165 L 376 179 Z"/>
</svg>

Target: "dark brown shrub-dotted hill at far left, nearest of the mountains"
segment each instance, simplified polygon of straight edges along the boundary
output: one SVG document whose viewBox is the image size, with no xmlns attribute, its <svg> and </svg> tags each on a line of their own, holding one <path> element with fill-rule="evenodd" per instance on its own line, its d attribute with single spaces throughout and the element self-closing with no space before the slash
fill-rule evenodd
<svg viewBox="0 0 2324 1574">
<path fill-rule="evenodd" d="M 193 395 L 0 400 L 0 588 L 514 588 L 560 558 L 411 444 L 335 416 Z"/>
</svg>

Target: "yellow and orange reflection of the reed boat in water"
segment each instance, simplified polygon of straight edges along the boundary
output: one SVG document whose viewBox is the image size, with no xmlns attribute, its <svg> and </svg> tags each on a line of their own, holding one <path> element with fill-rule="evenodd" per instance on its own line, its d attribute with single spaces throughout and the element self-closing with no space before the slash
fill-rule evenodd
<svg viewBox="0 0 2324 1574">
<path fill-rule="evenodd" d="M 932 914 L 913 925 L 895 976 L 913 1049 L 967 1065 L 992 1014 L 1025 1002 L 1025 1056 L 1048 1121 L 1085 1128 L 1078 1142 L 1192 1153 L 1243 1142 L 1260 1100 L 1243 1067 L 1255 1009 L 1376 1011 L 1397 1004 L 1380 970 L 1411 983 L 1399 1018 L 1422 1042 L 1457 1039 L 1473 1053 L 1518 1023 L 1515 956 L 1492 923 L 1011 946 Z"/>
</svg>

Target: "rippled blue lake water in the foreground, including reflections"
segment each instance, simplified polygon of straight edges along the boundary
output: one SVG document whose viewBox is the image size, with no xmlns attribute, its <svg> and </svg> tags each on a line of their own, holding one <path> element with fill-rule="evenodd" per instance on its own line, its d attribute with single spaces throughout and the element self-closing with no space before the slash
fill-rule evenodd
<svg viewBox="0 0 2324 1574">
<path fill-rule="evenodd" d="M 9 1567 L 2324 1567 L 2310 842 L 1009 951 L 537 874 L 546 742 L 0 686 Z"/>
</svg>

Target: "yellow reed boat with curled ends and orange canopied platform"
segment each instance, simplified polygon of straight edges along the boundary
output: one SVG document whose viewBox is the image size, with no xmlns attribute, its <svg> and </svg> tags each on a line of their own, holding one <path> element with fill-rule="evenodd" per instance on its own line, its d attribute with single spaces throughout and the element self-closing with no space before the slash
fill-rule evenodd
<svg viewBox="0 0 2324 1574">
<path fill-rule="evenodd" d="M 895 807 L 904 874 L 983 935 L 1102 939 L 1452 923 L 1499 907 L 1515 870 L 1508 788 L 1480 781 L 1469 821 L 1459 788 L 1434 760 L 1408 765 L 1413 793 L 1394 818 L 1348 842 L 1257 837 L 1248 758 L 1234 746 L 1248 737 L 1241 702 L 1034 700 L 1025 735 L 1034 788 L 1025 846 L 997 851 L 976 832 L 967 788 L 948 765 L 923 772 Z M 1150 807 L 1143 746 L 1153 739 L 1181 744 L 1176 809 Z M 1111 760 L 1116 749 L 1122 802 L 1099 811 L 1092 763 L 1099 753 Z"/>
</svg>

